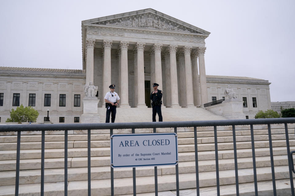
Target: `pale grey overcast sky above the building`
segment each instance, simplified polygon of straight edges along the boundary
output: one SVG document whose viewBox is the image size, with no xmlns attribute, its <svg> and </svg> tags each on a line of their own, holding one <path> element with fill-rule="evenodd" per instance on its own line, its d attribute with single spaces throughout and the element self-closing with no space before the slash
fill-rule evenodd
<svg viewBox="0 0 295 196">
<path fill-rule="evenodd" d="M 152 8 L 211 32 L 207 75 L 271 82 L 295 101 L 295 1 L 0 0 L 0 66 L 82 69 L 81 21 Z"/>
</svg>

